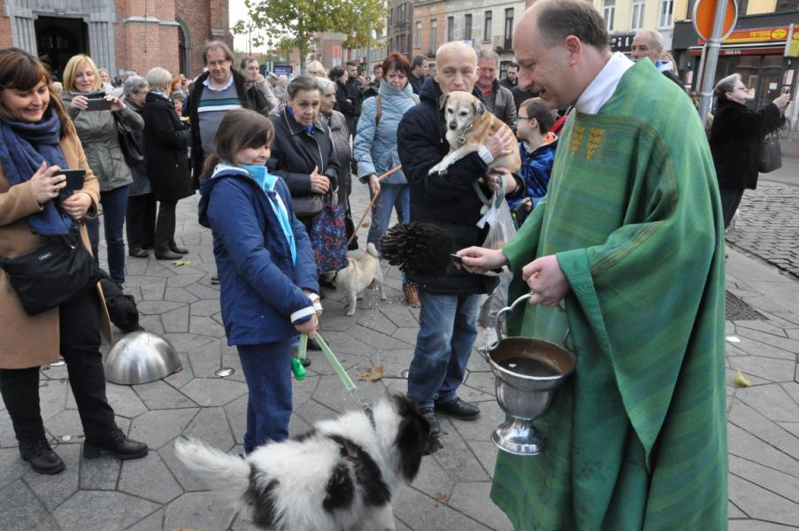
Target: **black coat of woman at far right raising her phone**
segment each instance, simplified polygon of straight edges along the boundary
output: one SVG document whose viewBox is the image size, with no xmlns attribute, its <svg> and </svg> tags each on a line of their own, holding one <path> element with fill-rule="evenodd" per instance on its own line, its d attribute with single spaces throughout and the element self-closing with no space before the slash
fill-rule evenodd
<svg viewBox="0 0 799 531">
<path fill-rule="evenodd" d="M 761 142 L 784 121 L 775 104 L 754 112 L 726 97 L 718 99 L 710 144 L 719 188 L 757 187 Z"/>
</svg>

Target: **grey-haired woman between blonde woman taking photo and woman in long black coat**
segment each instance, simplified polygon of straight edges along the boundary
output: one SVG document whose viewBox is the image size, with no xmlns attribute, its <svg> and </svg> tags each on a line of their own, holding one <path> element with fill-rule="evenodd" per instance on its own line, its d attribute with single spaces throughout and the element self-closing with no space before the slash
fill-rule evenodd
<svg viewBox="0 0 799 531">
<path fill-rule="evenodd" d="M 150 84 L 142 76 L 127 78 L 122 89 L 122 101 L 127 107 L 142 115 L 144 98 L 150 91 Z M 127 212 L 125 214 L 127 230 L 127 254 L 135 258 L 147 258 L 148 249 L 152 249 L 156 232 L 156 197 L 150 189 L 147 177 L 147 147 L 144 142 L 144 131 L 134 131 L 130 135 L 135 150 L 144 157 L 140 161 L 128 160 L 133 184 L 127 196 Z"/>
</svg>

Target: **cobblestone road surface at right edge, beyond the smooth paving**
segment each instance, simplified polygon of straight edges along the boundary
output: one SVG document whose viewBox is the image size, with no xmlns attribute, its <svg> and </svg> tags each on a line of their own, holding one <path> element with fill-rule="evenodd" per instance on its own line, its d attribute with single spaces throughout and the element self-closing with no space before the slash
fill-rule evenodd
<svg viewBox="0 0 799 531">
<path fill-rule="evenodd" d="M 727 242 L 799 278 L 799 187 L 759 181 L 739 210 Z"/>
</svg>

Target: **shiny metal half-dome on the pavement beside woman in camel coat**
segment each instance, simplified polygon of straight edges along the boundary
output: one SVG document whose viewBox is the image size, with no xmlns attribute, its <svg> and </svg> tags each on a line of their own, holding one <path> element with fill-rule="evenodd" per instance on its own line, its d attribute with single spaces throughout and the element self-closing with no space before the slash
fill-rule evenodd
<svg viewBox="0 0 799 531">
<path fill-rule="evenodd" d="M 111 347 L 105 377 L 121 385 L 160 380 L 181 370 L 172 343 L 152 332 L 132 332 Z"/>
</svg>

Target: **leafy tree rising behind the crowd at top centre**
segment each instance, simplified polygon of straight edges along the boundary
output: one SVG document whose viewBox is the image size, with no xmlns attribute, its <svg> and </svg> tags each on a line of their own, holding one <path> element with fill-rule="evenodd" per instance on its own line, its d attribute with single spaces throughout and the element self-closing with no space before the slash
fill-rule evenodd
<svg viewBox="0 0 799 531">
<path fill-rule="evenodd" d="M 373 32 L 382 34 L 386 19 L 384 0 L 245 0 L 249 20 L 239 20 L 236 35 L 251 33 L 252 27 L 278 41 L 280 49 L 296 48 L 301 65 L 317 35 L 326 31 L 346 36 L 343 48 L 367 48 Z M 253 39 L 256 47 L 263 40 Z"/>
</svg>

